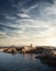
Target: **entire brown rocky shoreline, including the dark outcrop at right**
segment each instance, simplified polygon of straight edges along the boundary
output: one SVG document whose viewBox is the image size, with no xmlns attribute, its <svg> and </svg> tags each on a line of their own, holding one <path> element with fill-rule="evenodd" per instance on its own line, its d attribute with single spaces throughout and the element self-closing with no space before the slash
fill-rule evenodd
<svg viewBox="0 0 56 71">
<path fill-rule="evenodd" d="M 36 54 L 36 59 L 56 66 L 56 47 L 53 46 L 0 46 L 0 52 L 7 54 Z"/>
</svg>

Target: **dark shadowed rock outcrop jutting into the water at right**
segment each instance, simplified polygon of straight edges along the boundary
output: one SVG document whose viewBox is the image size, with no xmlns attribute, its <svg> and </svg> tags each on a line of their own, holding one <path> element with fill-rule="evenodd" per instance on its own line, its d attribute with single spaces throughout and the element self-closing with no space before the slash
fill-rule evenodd
<svg viewBox="0 0 56 71">
<path fill-rule="evenodd" d="M 40 54 L 37 57 L 42 62 L 45 62 L 51 66 L 56 66 L 56 50 L 48 50 L 45 54 Z"/>
</svg>

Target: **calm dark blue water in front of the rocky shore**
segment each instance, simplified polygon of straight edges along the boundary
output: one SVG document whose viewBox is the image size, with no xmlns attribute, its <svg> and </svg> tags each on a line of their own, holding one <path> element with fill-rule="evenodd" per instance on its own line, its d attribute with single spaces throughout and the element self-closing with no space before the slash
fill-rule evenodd
<svg viewBox="0 0 56 71">
<path fill-rule="evenodd" d="M 0 52 L 0 71 L 56 71 L 56 68 L 35 59 L 35 55 Z"/>
</svg>

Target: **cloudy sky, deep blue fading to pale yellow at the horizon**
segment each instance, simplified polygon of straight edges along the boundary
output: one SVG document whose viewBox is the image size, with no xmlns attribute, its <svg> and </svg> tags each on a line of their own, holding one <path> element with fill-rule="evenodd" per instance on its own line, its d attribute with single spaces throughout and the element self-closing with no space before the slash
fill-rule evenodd
<svg viewBox="0 0 56 71">
<path fill-rule="evenodd" d="M 0 45 L 56 46 L 56 0 L 0 0 Z"/>
</svg>

